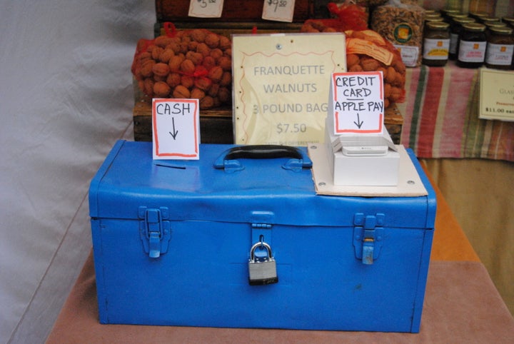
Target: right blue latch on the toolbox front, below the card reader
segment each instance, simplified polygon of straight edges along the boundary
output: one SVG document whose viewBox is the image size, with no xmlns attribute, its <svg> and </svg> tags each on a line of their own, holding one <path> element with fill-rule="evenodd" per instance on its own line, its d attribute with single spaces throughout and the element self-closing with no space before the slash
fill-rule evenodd
<svg viewBox="0 0 514 344">
<path fill-rule="evenodd" d="M 353 217 L 353 247 L 356 258 L 362 260 L 363 264 L 373 264 L 380 255 L 384 221 L 383 213 L 367 216 L 356 213 Z"/>
</svg>

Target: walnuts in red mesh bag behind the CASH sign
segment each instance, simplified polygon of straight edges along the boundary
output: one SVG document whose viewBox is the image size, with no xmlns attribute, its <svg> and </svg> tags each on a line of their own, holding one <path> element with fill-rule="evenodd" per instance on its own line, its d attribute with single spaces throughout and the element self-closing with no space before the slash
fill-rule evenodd
<svg viewBox="0 0 514 344">
<path fill-rule="evenodd" d="M 132 73 L 150 98 L 196 98 L 200 108 L 231 102 L 231 40 L 205 29 L 138 41 Z"/>
</svg>

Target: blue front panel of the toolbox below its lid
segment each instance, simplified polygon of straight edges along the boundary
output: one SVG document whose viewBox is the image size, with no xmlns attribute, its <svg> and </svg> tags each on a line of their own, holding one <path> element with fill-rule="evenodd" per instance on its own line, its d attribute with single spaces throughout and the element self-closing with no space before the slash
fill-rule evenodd
<svg viewBox="0 0 514 344">
<path fill-rule="evenodd" d="M 151 259 L 128 221 L 102 222 L 105 323 L 411 330 L 421 230 L 388 228 L 381 255 L 364 265 L 348 228 L 276 226 L 265 241 L 279 281 L 257 286 L 248 284 L 249 226 L 171 223 L 168 252 Z"/>
</svg>

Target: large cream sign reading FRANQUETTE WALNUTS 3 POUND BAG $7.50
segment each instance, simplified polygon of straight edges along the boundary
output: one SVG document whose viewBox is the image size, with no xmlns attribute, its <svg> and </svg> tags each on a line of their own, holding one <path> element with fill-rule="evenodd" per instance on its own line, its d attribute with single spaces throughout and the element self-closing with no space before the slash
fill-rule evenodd
<svg viewBox="0 0 514 344">
<path fill-rule="evenodd" d="M 333 73 L 346 71 L 345 35 L 233 35 L 238 144 L 323 142 Z"/>
</svg>

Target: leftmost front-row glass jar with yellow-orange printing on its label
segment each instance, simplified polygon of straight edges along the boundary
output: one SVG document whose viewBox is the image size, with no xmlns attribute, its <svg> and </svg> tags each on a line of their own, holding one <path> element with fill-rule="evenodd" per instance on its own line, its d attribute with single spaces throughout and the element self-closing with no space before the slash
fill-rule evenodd
<svg viewBox="0 0 514 344">
<path fill-rule="evenodd" d="M 448 62 L 450 49 L 450 24 L 444 21 L 429 21 L 423 35 L 423 60 L 426 66 L 444 66 Z"/>
</svg>

